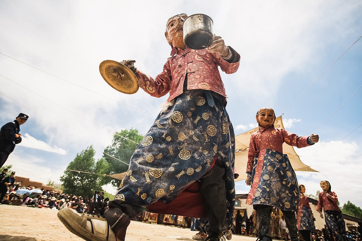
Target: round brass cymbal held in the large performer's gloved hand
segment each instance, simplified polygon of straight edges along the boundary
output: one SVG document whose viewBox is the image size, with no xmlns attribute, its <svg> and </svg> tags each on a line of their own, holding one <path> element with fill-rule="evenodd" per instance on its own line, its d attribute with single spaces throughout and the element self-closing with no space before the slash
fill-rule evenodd
<svg viewBox="0 0 362 241">
<path fill-rule="evenodd" d="M 104 80 L 115 90 L 125 94 L 138 91 L 138 79 L 126 65 L 113 60 L 104 60 L 99 65 Z"/>
</svg>

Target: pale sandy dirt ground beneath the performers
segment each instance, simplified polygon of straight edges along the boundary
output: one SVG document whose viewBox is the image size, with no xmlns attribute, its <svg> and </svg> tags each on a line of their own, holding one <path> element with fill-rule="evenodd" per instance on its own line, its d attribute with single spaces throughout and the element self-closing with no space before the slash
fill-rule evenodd
<svg viewBox="0 0 362 241">
<path fill-rule="evenodd" d="M 84 241 L 68 231 L 56 216 L 58 211 L 0 205 L 0 241 Z M 126 241 L 194 241 L 190 229 L 131 221 Z M 256 237 L 233 235 L 233 241 L 255 241 Z"/>
</svg>

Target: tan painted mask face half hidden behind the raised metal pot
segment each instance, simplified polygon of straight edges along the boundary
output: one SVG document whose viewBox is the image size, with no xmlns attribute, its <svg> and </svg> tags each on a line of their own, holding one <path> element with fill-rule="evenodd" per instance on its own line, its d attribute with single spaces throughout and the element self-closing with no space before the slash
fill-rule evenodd
<svg viewBox="0 0 362 241">
<path fill-rule="evenodd" d="M 175 48 L 184 49 L 186 47 L 184 43 L 184 24 L 186 14 L 181 16 L 172 17 L 167 21 L 165 37 L 170 45 Z"/>
</svg>

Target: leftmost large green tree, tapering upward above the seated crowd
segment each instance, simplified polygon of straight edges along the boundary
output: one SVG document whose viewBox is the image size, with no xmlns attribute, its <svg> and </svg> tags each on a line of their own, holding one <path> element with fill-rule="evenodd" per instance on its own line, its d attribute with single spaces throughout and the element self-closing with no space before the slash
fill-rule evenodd
<svg viewBox="0 0 362 241">
<path fill-rule="evenodd" d="M 60 181 L 63 182 L 64 193 L 90 197 L 94 194 L 94 190 L 101 190 L 98 185 L 98 175 L 91 174 L 94 173 L 96 166 L 94 154 L 93 146 L 89 146 L 78 153 L 76 158 L 69 163 L 64 175 L 60 177 Z"/>
</svg>

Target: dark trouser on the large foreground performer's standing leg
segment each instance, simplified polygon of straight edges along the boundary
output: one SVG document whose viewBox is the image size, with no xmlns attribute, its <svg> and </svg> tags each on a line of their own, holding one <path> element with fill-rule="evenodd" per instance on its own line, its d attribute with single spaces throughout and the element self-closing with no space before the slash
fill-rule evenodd
<svg viewBox="0 0 362 241">
<path fill-rule="evenodd" d="M 203 196 L 206 219 L 209 221 L 205 226 L 207 234 L 228 230 L 224 174 L 224 167 L 216 160 L 214 167 L 200 179 L 200 191 Z"/>
</svg>

